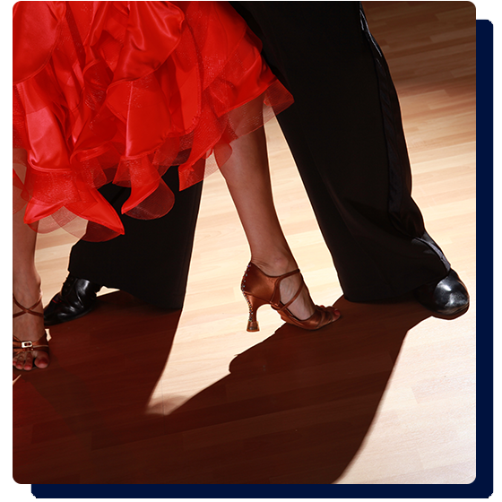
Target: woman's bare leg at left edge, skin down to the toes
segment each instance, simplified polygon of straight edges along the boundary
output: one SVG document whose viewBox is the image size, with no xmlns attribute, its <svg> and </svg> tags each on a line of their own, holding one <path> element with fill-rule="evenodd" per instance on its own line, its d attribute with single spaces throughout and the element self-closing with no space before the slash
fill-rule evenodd
<svg viewBox="0 0 502 502">
<path fill-rule="evenodd" d="M 31 307 L 40 298 L 40 276 L 35 268 L 37 233 L 24 223 L 23 217 L 24 211 L 13 214 L 13 295 L 22 306 Z M 43 313 L 41 302 L 33 310 Z M 21 312 L 21 308 L 13 303 L 13 314 L 17 312 Z M 43 317 L 30 314 L 15 317 L 13 334 L 22 341 L 39 340 L 44 334 Z M 18 369 L 30 370 L 33 364 L 47 368 L 48 354 L 44 351 L 25 352 L 13 359 L 13 366 Z"/>
</svg>

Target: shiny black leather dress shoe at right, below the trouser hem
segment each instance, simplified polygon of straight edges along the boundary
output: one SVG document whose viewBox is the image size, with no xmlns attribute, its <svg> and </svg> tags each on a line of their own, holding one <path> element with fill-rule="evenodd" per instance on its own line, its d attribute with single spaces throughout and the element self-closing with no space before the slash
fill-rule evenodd
<svg viewBox="0 0 502 502">
<path fill-rule="evenodd" d="M 469 307 L 469 293 L 454 270 L 438 282 L 417 288 L 415 298 L 429 310 L 444 316 L 454 316 Z"/>
</svg>

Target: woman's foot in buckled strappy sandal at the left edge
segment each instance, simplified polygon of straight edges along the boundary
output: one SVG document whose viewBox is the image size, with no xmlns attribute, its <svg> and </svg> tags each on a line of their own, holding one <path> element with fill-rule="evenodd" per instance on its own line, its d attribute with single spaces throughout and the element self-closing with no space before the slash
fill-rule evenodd
<svg viewBox="0 0 502 502">
<path fill-rule="evenodd" d="M 44 328 L 41 295 L 34 292 L 13 295 L 13 367 L 30 371 L 33 367 L 47 368 L 47 334 Z M 31 342 L 31 343 L 30 343 Z"/>
</svg>

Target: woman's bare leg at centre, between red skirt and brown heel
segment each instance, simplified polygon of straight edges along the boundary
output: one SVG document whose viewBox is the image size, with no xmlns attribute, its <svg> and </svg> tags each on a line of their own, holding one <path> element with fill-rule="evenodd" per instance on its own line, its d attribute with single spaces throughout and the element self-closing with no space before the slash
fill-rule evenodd
<svg viewBox="0 0 502 502">
<path fill-rule="evenodd" d="M 275 212 L 264 128 L 260 127 L 231 143 L 232 155 L 221 166 L 239 219 L 251 249 L 251 262 L 268 275 L 282 275 L 298 268 Z M 281 281 L 281 301 L 299 289 L 299 274 Z M 315 305 L 303 289 L 289 307 L 299 319 L 307 319 Z"/>
</svg>

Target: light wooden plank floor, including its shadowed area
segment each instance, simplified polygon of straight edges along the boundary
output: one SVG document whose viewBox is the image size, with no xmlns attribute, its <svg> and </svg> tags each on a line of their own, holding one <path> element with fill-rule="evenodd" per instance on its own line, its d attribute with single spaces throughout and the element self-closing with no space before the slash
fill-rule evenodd
<svg viewBox="0 0 502 502">
<path fill-rule="evenodd" d="M 307 333 L 263 307 L 262 331 L 245 331 L 247 242 L 212 175 L 183 312 L 105 290 L 90 316 L 49 330 L 51 367 L 13 385 L 13 484 L 474 480 L 476 3 L 364 4 L 399 92 L 413 196 L 469 310 L 446 320 L 411 299 L 346 301 L 273 122 L 284 231 L 313 298 L 342 320 Z M 39 238 L 46 302 L 73 243 Z"/>
</svg>

